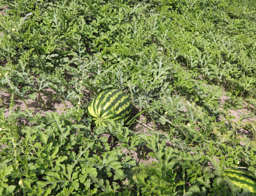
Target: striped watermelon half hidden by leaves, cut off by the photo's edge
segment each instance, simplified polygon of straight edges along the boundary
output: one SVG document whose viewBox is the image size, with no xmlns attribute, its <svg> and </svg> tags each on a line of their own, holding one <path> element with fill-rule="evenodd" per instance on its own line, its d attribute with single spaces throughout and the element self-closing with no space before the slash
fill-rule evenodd
<svg viewBox="0 0 256 196">
<path fill-rule="evenodd" d="M 240 169 L 228 169 L 223 170 L 222 176 L 227 176 L 237 188 L 247 187 L 250 192 L 256 193 L 256 179 L 249 172 Z"/>
</svg>

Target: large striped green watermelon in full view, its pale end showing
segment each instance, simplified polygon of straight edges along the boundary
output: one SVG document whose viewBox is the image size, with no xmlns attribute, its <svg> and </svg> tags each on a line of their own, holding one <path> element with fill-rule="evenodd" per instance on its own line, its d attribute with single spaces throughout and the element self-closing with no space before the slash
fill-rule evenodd
<svg viewBox="0 0 256 196">
<path fill-rule="evenodd" d="M 96 126 L 106 125 L 107 119 L 127 120 L 132 112 L 131 99 L 117 89 L 111 89 L 97 94 L 89 103 L 88 116 L 95 121 Z"/>
</svg>

